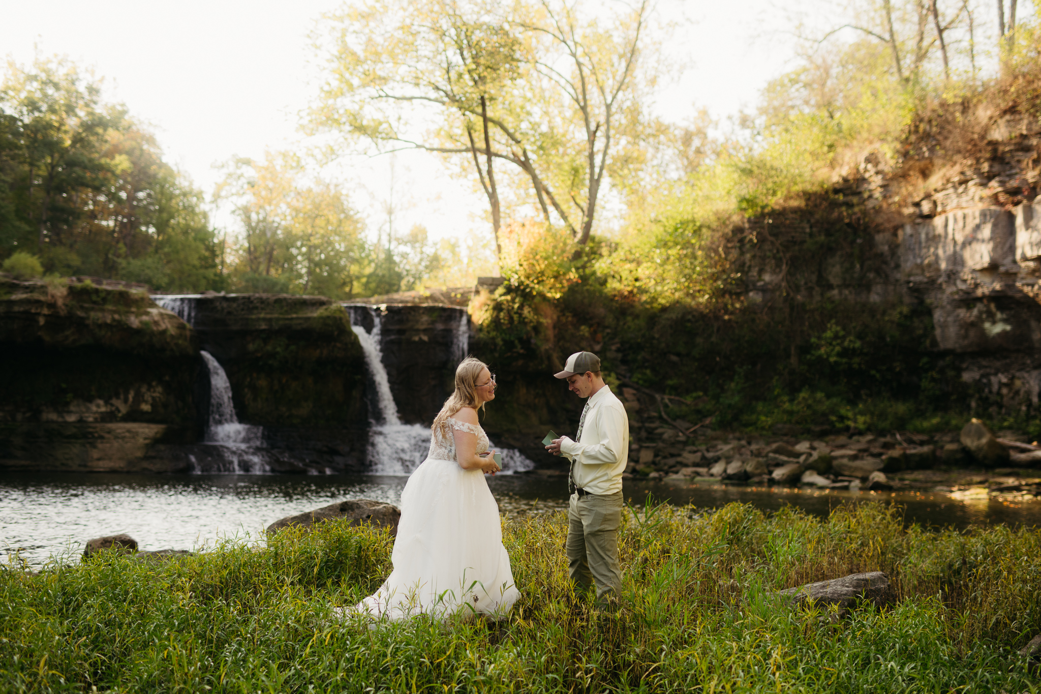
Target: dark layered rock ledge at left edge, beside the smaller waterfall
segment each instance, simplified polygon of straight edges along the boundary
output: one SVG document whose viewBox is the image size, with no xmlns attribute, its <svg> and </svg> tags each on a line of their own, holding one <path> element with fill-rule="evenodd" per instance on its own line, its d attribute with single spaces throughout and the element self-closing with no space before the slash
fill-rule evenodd
<svg viewBox="0 0 1041 694">
<path fill-rule="evenodd" d="M 192 329 L 118 283 L 0 278 L 0 467 L 170 471 L 199 435 Z"/>
</svg>

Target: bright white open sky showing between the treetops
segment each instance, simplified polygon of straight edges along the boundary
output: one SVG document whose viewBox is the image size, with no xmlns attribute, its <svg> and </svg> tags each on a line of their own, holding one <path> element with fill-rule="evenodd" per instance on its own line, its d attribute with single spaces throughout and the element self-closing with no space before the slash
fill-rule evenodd
<svg viewBox="0 0 1041 694">
<path fill-rule="evenodd" d="M 339 0 L 0 0 L 0 53 L 28 65 L 35 51 L 67 55 L 104 77 L 106 100 L 122 101 L 153 125 L 167 160 L 207 194 L 220 178 L 214 163 L 260 158 L 265 149 L 300 142 L 298 113 L 318 89 L 307 34 Z M 756 102 L 768 79 L 790 67 L 792 43 L 770 0 L 739 7 L 726 2 L 662 0 L 662 15 L 681 22 L 666 53 L 690 63 L 662 89 L 657 108 L 668 120 L 691 117 L 695 104 L 713 115 Z M 350 162 L 353 202 L 375 228 L 388 189 L 385 157 Z M 399 155 L 395 227 L 424 224 L 433 238 L 488 233 L 486 201 L 422 153 Z M 218 224 L 227 223 L 218 214 Z"/>
</svg>

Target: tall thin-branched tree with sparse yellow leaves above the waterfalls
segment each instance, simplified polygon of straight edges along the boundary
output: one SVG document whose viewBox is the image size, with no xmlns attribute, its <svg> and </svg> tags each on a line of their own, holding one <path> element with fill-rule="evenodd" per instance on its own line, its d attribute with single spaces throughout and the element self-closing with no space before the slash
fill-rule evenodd
<svg viewBox="0 0 1041 694">
<path fill-rule="evenodd" d="M 607 18 L 581 0 L 367 0 L 327 16 L 327 79 L 309 129 L 377 151 L 473 162 L 497 237 L 493 161 L 512 164 L 517 204 L 588 241 L 612 156 L 644 118 L 646 1 Z M 519 181 L 524 181 L 520 184 Z"/>
</svg>

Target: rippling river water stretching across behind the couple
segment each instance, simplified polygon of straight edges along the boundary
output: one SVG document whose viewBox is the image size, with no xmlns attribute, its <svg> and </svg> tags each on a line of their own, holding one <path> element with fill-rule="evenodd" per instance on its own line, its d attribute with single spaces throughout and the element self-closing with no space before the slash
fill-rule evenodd
<svg viewBox="0 0 1041 694">
<path fill-rule="evenodd" d="M 200 549 L 222 538 L 259 538 L 284 516 L 336 500 L 372 498 L 398 504 L 406 478 L 378 475 L 77 474 L 8 472 L 0 480 L 0 561 L 15 552 L 39 566 L 51 557 L 74 559 L 95 537 L 127 533 L 142 549 Z M 488 480 L 507 514 L 564 508 L 564 477 L 537 474 Z M 1041 502 L 957 500 L 943 493 L 858 493 L 738 485 L 646 483 L 627 480 L 626 498 L 716 507 L 751 503 L 771 511 L 786 504 L 827 515 L 845 502 L 892 502 L 909 522 L 966 528 L 1005 522 L 1041 525 Z"/>
</svg>

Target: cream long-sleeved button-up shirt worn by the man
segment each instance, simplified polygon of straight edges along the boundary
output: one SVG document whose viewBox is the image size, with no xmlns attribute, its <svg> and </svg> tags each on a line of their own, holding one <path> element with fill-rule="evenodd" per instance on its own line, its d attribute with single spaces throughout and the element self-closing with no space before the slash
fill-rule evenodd
<svg viewBox="0 0 1041 694">
<path fill-rule="evenodd" d="M 621 473 L 629 462 L 629 416 L 611 386 L 589 396 L 582 437 L 562 437 L 560 452 L 575 461 L 575 485 L 590 494 L 621 491 Z"/>
</svg>

